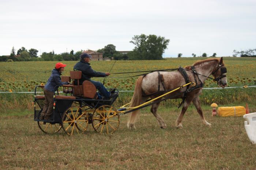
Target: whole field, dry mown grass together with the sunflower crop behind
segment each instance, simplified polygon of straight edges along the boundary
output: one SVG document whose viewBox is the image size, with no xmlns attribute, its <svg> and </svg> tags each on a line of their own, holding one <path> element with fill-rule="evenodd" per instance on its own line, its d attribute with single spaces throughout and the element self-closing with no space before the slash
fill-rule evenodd
<svg viewBox="0 0 256 170">
<path fill-rule="evenodd" d="M 171 58 L 161 61 L 117 61 L 111 73 L 177 68 L 192 65 L 204 58 Z M 256 84 L 256 58 L 224 58 L 229 86 Z M 77 61 L 68 64 L 64 75 Z M 46 82 L 55 65 L 52 62 L 0 62 L 0 92 L 30 92 Z M 108 72 L 113 61 L 93 61 L 91 66 Z M 118 76 L 130 76 L 118 75 Z M 136 75 L 133 74 L 133 75 Z M 107 87 L 133 90 L 136 78 L 120 78 L 112 74 Z M 102 78 L 94 80 L 103 81 Z M 206 81 L 205 87 L 217 87 Z M 127 103 L 132 93 L 120 93 L 114 106 Z M 33 94 L 0 94 L 0 169 L 256 169 L 256 145 L 245 132 L 242 117 L 211 117 L 210 103 L 234 106 L 248 103 L 256 112 L 256 88 L 203 90 L 200 101 L 206 120 L 201 123 L 193 106 L 175 128 L 181 109 L 180 100 L 167 100 L 158 113 L 167 124 L 160 129 L 150 113 L 141 110 L 136 130 L 126 127 L 127 115 L 112 135 L 97 134 L 91 128 L 82 135 L 68 136 L 63 130 L 46 135 L 33 121 Z"/>
</svg>

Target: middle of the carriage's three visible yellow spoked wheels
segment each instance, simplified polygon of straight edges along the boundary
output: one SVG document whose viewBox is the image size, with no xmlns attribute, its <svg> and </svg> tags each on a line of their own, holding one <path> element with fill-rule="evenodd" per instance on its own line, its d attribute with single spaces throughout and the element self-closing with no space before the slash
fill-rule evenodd
<svg viewBox="0 0 256 170">
<path fill-rule="evenodd" d="M 68 135 L 82 134 L 87 130 L 88 117 L 78 106 L 72 106 L 62 116 L 62 128 Z"/>
</svg>

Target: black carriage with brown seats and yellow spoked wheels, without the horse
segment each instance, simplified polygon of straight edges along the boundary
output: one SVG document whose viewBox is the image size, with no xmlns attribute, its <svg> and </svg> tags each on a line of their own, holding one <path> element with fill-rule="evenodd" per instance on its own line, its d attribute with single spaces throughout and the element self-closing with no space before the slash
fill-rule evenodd
<svg viewBox="0 0 256 170">
<path fill-rule="evenodd" d="M 68 134 L 80 134 L 87 130 L 89 124 L 97 132 L 113 133 L 118 128 L 120 116 L 116 108 L 112 106 L 118 95 L 109 100 L 97 98 L 97 90 L 90 81 L 84 81 L 82 85 L 74 84 L 82 76 L 80 71 L 71 71 L 70 76 L 62 76 L 61 81 L 71 82 L 72 85 L 62 85 L 65 96 L 53 96 L 53 114 L 51 120 L 40 120 L 40 115 L 44 107 L 45 97 L 35 95 L 34 100 L 34 120 L 38 122 L 39 128 L 45 133 L 56 133 L 61 128 Z M 37 88 L 44 86 L 36 86 Z M 57 86 L 56 86 L 57 87 Z M 118 93 L 117 89 L 112 90 Z"/>
</svg>

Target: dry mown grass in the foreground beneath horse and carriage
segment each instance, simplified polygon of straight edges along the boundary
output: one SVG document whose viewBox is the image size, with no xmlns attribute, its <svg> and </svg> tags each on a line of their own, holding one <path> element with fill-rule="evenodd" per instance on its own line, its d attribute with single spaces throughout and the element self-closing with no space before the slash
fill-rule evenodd
<svg viewBox="0 0 256 170">
<path fill-rule="evenodd" d="M 63 130 L 46 135 L 33 115 L 1 116 L 0 169 L 255 169 L 256 145 L 250 143 L 242 117 L 204 115 L 194 108 L 174 127 L 178 112 L 160 110 L 167 129 L 160 129 L 149 108 L 143 109 L 136 130 L 126 127 L 127 115 L 112 135 L 93 132 L 68 136 Z M 256 111 L 256 107 L 250 108 Z"/>
</svg>

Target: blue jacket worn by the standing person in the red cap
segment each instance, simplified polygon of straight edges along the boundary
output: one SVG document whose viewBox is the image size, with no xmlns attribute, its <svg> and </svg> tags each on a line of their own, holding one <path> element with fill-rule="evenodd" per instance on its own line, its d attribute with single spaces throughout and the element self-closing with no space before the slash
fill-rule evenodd
<svg viewBox="0 0 256 170">
<path fill-rule="evenodd" d="M 48 79 L 48 81 L 45 85 L 45 89 L 50 91 L 50 92 L 54 92 L 58 89 L 58 88 L 54 89 L 55 86 L 68 84 L 68 82 L 61 82 L 60 75 L 61 74 L 60 74 L 60 72 L 58 72 L 58 70 L 53 69 L 52 74 L 51 74 L 50 78 Z"/>
</svg>

